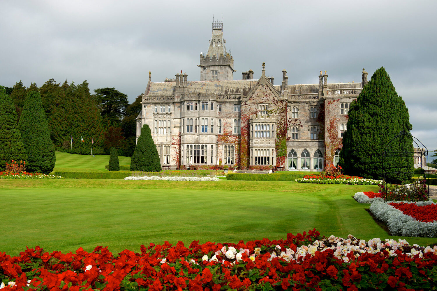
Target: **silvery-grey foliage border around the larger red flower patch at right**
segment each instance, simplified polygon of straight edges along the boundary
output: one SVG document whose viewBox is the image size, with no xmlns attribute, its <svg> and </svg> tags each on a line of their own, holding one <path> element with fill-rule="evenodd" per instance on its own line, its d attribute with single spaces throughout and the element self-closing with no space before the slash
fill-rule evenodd
<svg viewBox="0 0 437 291">
<path fill-rule="evenodd" d="M 422 222 L 416 220 L 413 216 L 403 213 L 401 210 L 394 208 L 390 202 L 374 201 L 371 203 L 369 210 L 379 220 L 387 224 L 388 230 L 392 235 L 399 236 L 427 236 L 437 237 L 437 221 Z M 415 204 L 417 207 L 426 205 L 435 205 L 430 199 L 425 202 L 403 202 L 405 204 Z M 422 211 L 420 211 L 422 212 Z M 435 213 L 434 213 L 435 215 Z"/>
</svg>

